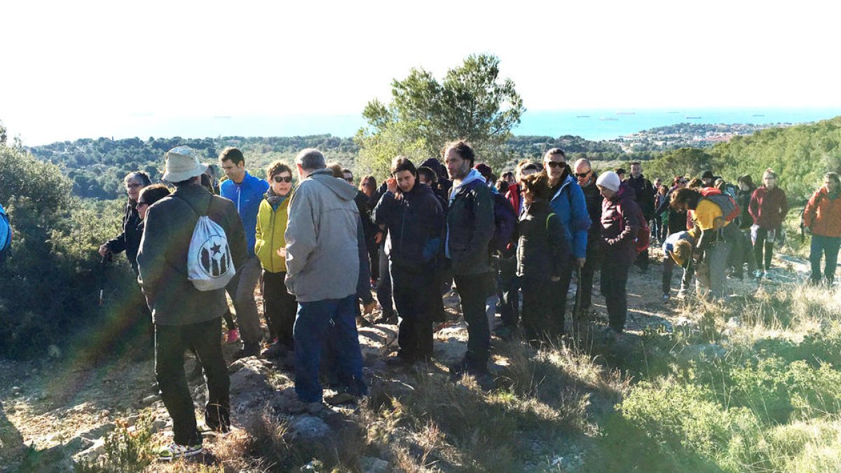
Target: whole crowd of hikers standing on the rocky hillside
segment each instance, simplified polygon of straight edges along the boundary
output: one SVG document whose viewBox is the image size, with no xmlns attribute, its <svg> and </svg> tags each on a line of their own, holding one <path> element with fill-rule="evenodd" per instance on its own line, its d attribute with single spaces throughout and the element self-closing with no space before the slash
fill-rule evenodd
<svg viewBox="0 0 841 473">
<path fill-rule="evenodd" d="M 767 277 L 785 235 L 789 207 L 770 169 L 754 189 L 750 176 L 737 187 L 711 171 L 652 183 L 641 162 L 632 162 L 627 178 L 622 169 L 596 173 L 587 159 L 568 162 L 560 148 L 499 178 L 465 141 L 447 144 L 441 158 L 415 166 L 394 157 L 388 178 L 364 176 L 357 188 L 351 170 L 315 149 L 300 151 L 291 165 L 272 162 L 264 179 L 248 173 L 243 153 L 231 147 L 220 153 L 225 178 L 218 183 L 214 166 L 178 146 L 167 152 L 162 178 L 172 190 L 142 172 L 126 176 L 124 231 L 99 252 L 125 252 L 151 311 L 156 380 L 174 432 L 162 460 L 202 451 L 183 369 L 188 350 L 208 386 L 205 423 L 225 433 L 223 342 L 241 343 L 236 358 L 294 353 L 298 403 L 291 409 L 318 412 L 323 401 L 368 394 L 357 326 L 398 323 L 399 350 L 389 365 L 431 359 L 434 329 L 447 320 L 442 297 L 451 290 L 468 344 L 450 370 L 482 379 L 494 333 L 537 344 L 578 335 L 593 313 L 597 271 L 609 321 L 604 336 L 621 338 L 628 275 L 635 265 L 648 272 L 654 243 L 664 251 L 664 300 L 672 297 L 675 267 L 683 269 L 678 297 L 695 284 L 696 295 L 723 299 L 728 277 L 743 279 L 745 265 L 749 276 Z M 833 283 L 839 189 L 838 174 L 828 173 L 802 215 L 812 233 L 814 284 Z M 197 241 L 204 217 L 213 230 Z M 213 285 L 223 276 L 230 280 Z M 336 392 L 327 398 L 325 369 Z"/>
</svg>

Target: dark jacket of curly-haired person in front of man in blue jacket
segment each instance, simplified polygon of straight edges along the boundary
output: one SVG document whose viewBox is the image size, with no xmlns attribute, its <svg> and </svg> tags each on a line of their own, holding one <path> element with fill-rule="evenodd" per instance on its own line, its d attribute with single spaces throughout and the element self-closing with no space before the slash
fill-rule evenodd
<svg viewBox="0 0 841 473">
<path fill-rule="evenodd" d="M 546 201 L 523 206 L 517 232 L 517 276 L 549 280 L 569 264 L 566 232 Z"/>
</svg>

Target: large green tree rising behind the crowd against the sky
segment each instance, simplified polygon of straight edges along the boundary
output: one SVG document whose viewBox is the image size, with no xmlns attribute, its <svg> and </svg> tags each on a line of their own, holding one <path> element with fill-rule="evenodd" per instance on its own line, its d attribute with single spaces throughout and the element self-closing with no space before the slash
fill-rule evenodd
<svg viewBox="0 0 841 473">
<path fill-rule="evenodd" d="M 447 141 L 464 139 L 483 161 L 505 162 L 505 142 L 525 111 L 514 82 L 500 78 L 500 60 L 468 56 L 438 81 L 431 72 L 413 68 L 392 82 L 392 100 L 368 102 L 362 116 L 368 125 L 357 132 L 360 164 L 383 173 L 400 154 L 421 159 L 438 156 Z"/>
</svg>

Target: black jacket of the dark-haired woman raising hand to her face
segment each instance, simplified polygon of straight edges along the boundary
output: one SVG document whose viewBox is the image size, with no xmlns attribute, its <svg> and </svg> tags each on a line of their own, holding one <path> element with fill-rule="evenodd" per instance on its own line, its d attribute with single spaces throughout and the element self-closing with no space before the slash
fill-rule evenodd
<svg viewBox="0 0 841 473">
<path fill-rule="evenodd" d="M 389 230 L 385 253 L 404 269 L 422 270 L 436 263 L 442 245 L 444 210 L 426 184 L 415 183 L 409 192 L 383 194 L 373 210 L 373 221 Z"/>
</svg>

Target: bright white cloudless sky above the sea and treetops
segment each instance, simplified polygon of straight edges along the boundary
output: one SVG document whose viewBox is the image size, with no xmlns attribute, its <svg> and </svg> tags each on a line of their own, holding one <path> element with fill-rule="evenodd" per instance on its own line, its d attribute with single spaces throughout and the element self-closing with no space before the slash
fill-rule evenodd
<svg viewBox="0 0 841 473">
<path fill-rule="evenodd" d="M 360 114 L 412 67 L 500 57 L 526 109 L 838 108 L 841 3 L 3 5 L 0 120 L 25 145 L 138 120 Z M 528 112 L 526 112 L 527 114 Z M 328 131 L 325 131 L 328 132 Z"/>
</svg>

